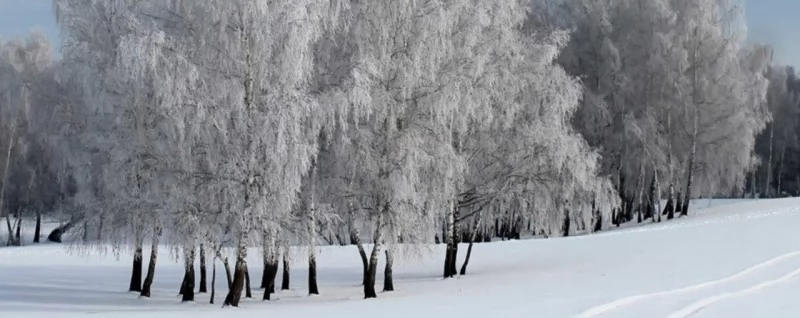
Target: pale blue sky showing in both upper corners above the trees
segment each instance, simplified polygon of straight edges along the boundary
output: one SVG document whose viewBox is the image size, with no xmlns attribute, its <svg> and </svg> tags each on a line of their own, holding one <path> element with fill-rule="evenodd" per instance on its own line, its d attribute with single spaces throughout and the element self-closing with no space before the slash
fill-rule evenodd
<svg viewBox="0 0 800 318">
<path fill-rule="evenodd" d="M 800 66 L 800 0 L 745 0 L 749 39 L 772 45 L 776 62 Z M 58 41 L 51 0 L 0 0 L 0 37 L 21 37 L 33 28 Z"/>
</svg>

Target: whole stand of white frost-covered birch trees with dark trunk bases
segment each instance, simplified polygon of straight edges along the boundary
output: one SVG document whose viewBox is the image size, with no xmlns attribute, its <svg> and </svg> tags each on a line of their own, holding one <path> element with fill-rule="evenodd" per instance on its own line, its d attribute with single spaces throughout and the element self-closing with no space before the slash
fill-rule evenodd
<svg viewBox="0 0 800 318">
<path fill-rule="evenodd" d="M 184 300 L 199 254 L 199 291 L 210 257 L 233 306 L 250 294 L 250 247 L 269 299 L 290 247 L 306 247 L 315 294 L 316 246 L 353 244 L 370 298 L 380 257 L 393 289 L 400 246 L 446 244 L 452 277 L 461 242 L 468 262 L 475 241 L 661 221 L 694 197 L 743 194 L 757 135 L 797 87 L 768 69 L 769 48 L 744 45 L 732 0 L 54 9 L 59 60 L 37 34 L 0 44 L 9 240 L 12 212 L 58 210 L 57 234 L 135 256 L 131 290 L 150 295 L 169 244 L 183 251 Z M 770 127 L 783 180 L 795 126 Z"/>
</svg>

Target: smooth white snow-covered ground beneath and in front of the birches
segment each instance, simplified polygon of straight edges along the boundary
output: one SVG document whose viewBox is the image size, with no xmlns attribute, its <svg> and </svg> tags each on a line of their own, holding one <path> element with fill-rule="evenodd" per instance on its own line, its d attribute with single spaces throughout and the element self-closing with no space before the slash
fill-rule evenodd
<svg viewBox="0 0 800 318">
<path fill-rule="evenodd" d="M 0 317 L 800 317 L 798 225 L 800 199 L 712 201 L 672 222 L 478 244 L 468 275 L 451 280 L 439 277 L 437 246 L 396 264 L 397 291 L 372 300 L 361 299 L 356 249 L 327 247 L 318 256 L 322 295 L 305 295 L 298 255 L 293 290 L 262 302 L 256 289 L 257 299 L 236 309 L 218 305 L 226 289 L 220 268 L 217 305 L 207 294 L 181 304 L 182 270 L 166 248 L 151 299 L 126 292 L 128 255 L 81 256 L 55 244 L 2 248 Z M 261 262 L 251 255 L 257 286 Z"/>
</svg>

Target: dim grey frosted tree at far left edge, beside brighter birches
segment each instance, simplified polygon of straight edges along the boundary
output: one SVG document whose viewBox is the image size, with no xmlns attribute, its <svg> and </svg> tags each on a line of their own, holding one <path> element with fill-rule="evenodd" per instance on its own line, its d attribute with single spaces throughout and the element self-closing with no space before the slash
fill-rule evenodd
<svg viewBox="0 0 800 318">
<path fill-rule="evenodd" d="M 36 214 L 33 240 L 39 241 L 42 210 L 54 206 L 58 192 L 47 144 L 57 98 L 52 70 L 52 48 L 42 33 L 0 43 L 0 215 L 6 216 L 9 245 L 22 243 L 22 218 L 29 213 Z"/>
</svg>

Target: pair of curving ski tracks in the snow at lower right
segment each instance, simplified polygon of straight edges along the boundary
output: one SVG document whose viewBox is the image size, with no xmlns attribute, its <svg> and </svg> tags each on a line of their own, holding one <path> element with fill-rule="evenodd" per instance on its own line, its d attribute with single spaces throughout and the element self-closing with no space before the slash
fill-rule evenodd
<svg viewBox="0 0 800 318">
<path fill-rule="evenodd" d="M 753 265 L 753 266 L 748 267 L 748 268 L 746 268 L 746 269 L 744 269 L 744 270 L 742 270 L 742 271 L 740 271 L 740 272 L 738 272 L 736 274 L 733 274 L 733 275 L 730 275 L 730 276 L 726 276 L 726 277 L 723 277 L 723 278 L 720 278 L 720 279 L 706 281 L 706 282 L 702 282 L 702 283 L 695 284 L 695 285 L 681 287 L 681 288 L 678 288 L 678 289 L 671 289 L 671 290 L 666 290 L 666 291 L 654 292 L 654 293 L 649 293 L 649 294 L 640 294 L 640 295 L 634 295 L 634 296 L 628 296 L 628 297 L 625 297 L 625 298 L 620 298 L 620 299 L 617 299 L 617 300 L 609 302 L 609 303 L 605 303 L 605 304 L 602 304 L 602 305 L 599 305 L 599 306 L 592 307 L 592 308 L 590 308 L 590 309 L 578 314 L 578 316 L 576 316 L 576 317 L 579 317 L 579 318 L 597 317 L 597 316 L 600 316 L 602 314 L 605 314 L 605 313 L 608 313 L 610 311 L 614 311 L 614 310 L 617 310 L 617 309 L 621 309 L 622 307 L 631 305 L 633 303 L 640 302 L 640 301 L 645 300 L 645 299 L 650 299 L 650 298 L 655 298 L 655 297 L 660 297 L 660 296 L 680 295 L 680 294 L 684 294 L 684 293 L 688 293 L 688 292 L 692 292 L 692 291 L 697 291 L 697 290 L 700 290 L 700 289 L 703 289 L 703 288 L 708 288 L 708 287 L 712 287 L 712 286 L 715 286 L 715 285 L 719 285 L 719 284 L 724 284 L 724 283 L 727 283 L 727 282 L 735 281 L 737 279 L 741 279 L 741 278 L 747 277 L 748 275 L 750 275 L 752 273 L 755 273 L 755 272 L 758 272 L 758 271 L 763 270 L 765 268 L 777 265 L 777 264 L 779 264 L 779 263 L 781 263 L 781 262 L 783 262 L 783 261 L 785 261 L 787 259 L 799 256 L 799 255 L 800 255 L 800 251 L 794 251 L 794 252 L 790 252 L 790 253 L 786 253 L 786 254 L 774 257 L 774 258 L 772 258 L 772 259 L 770 259 L 770 260 L 768 260 L 766 262 Z M 699 310 L 702 310 L 703 308 L 705 308 L 705 307 L 707 307 L 707 306 L 709 306 L 709 305 L 711 305 L 711 304 L 713 304 L 713 303 L 715 303 L 715 302 L 717 302 L 719 300 L 722 300 L 722 299 L 725 299 L 725 298 L 729 298 L 729 297 L 734 297 L 734 296 L 740 296 L 740 295 L 744 295 L 744 294 L 747 294 L 747 293 L 751 293 L 751 292 L 754 292 L 754 291 L 757 291 L 757 290 L 760 290 L 760 289 L 763 289 L 763 288 L 766 288 L 766 287 L 769 287 L 769 286 L 772 286 L 772 285 L 775 285 L 775 284 L 778 284 L 778 283 L 781 283 L 781 282 L 784 282 L 784 281 L 788 281 L 788 280 L 790 280 L 790 279 L 792 279 L 792 278 L 794 278 L 795 276 L 798 276 L 798 275 L 800 275 L 800 269 L 797 269 L 797 270 L 795 270 L 795 271 L 793 271 L 793 272 L 791 272 L 789 274 L 786 274 L 786 275 L 784 275 L 783 277 L 781 277 L 779 279 L 772 280 L 772 281 L 767 281 L 767 282 L 764 282 L 764 283 L 760 283 L 758 285 L 755 285 L 755 286 L 753 286 L 751 288 L 748 288 L 748 289 L 745 289 L 745 290 L 741 290 L 739 292 L 724 293 L 724 294 L 721 294 L 721 295 L 704 298 L 704 299 L 701 299 L 700 301 L 695 302 L 694 304 L 692 304 L 692 305 L 690 305 L 688 307 L 685 307 L 685 308 L 683 308 L 683 309 L 671 314 L 669 317 L 670 318 L 686 317 L 686 316 L 691 315 L 691 314 L 693 314 L 693 313 L 695 313 L 695 312 L 697 312 Z"/>
</svg>

